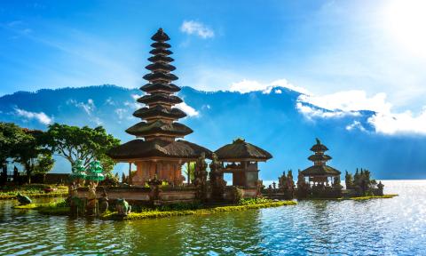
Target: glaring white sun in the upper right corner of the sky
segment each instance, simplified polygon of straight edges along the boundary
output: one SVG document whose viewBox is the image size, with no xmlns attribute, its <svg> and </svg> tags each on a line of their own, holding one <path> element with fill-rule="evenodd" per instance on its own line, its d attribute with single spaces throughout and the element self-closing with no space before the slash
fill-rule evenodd
<svg viewBox="0 0 426 256">
<path fill-rule="evenodd" d="M 415 55 L 426 57 L 426 1 L 386 2 L 384 27 L 396 43 Z"/>
</svg>

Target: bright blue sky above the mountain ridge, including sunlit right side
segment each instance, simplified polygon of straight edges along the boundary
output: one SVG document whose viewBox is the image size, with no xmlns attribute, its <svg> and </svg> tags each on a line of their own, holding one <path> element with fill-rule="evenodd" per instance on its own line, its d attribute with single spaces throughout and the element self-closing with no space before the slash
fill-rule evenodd
<svg viewBox="0 0 426 256">
<path fill-rule="evenodd" d="M 424 135 L 424 12 L 420 0 L 3 1 L 0 95 L 138 87 L 149 37 L 162 27 L 178 85 L 239 92 L 280 85 L 321 108 L 374 110 L 377 132 Z"/>
</svg>

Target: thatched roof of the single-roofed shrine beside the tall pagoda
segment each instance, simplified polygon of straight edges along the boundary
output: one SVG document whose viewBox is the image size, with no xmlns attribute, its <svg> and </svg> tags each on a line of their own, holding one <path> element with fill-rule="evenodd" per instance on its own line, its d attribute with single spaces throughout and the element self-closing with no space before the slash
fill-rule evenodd
<svg viewBox="0 0 426 256">
<path fill-rule="evenodd" d="M 233 143 L 217 149 L 215 153 L 219 160 L 227 162 L 266 161 L 272 158 L 266 150 L 241 139 L 233 140 Z"/>
</svg>

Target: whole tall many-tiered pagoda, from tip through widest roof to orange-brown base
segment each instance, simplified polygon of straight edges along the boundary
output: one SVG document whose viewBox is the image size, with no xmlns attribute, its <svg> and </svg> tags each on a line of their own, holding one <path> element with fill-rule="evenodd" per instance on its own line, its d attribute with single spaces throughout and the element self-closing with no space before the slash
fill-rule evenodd
<svg viewBox="0 0 426 256">
<path fill-rule="evenodd" d="M 184 138 L 193 130 L 185 124 L 177 123 L 186 114 L 174 108 L 182 100 L 174 95 L 180 88 L 171 84 L 177 80 L 177 76 L 170 73 L 176 69 L 170 65 L 173 59 L 169 55 L 172 52 L 169 50 L 170 44 L 166 43 L 170 38 L 160 28 L 151 39 L 155 41 L 151 44 L 154 47 L 150 52 L 153 56 L 148 58 L 152 64 L 146 66 L 151 73 L 144 76 L 149 83 L 140 87 L 146 94 L 138 99 L 146 107 L 133 113 L 142 121 L 126 130 L 137 139 L 113 148 L 108 155 L 117 162 L 136 164 L 137 172 L 130 181 L 133 185 L 145 185 L 155 174 L 159 180 L 178 185 L 184 180 L 182 165 L 195 161 L 203 152 L 211 156 L 211 152 L 188 141 L 176 140 Z"/>
</svg>

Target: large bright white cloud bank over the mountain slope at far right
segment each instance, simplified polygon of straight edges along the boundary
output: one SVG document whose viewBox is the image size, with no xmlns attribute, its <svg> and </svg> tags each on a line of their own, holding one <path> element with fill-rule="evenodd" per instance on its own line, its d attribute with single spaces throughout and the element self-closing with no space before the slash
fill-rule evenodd
<svg viewBox="0 0 426 256">
<path fill-rule="evenodd" d="M 426 107 L 418 115 L 414 115 L 411 111 L 394 113 L 391 110 L 392 104 L 386 101 L 386 94 L 383 92 L 377 93 L 373 97 L 367 97 L 367 93 L 364 91 L 335 92 L 321 96 L 300 95 L 296 108 L 309 119 L 312 117 L 360 116 L 360 110 L 370 110 L 375 114 L 370 116 L 367 122 L 374 127 L 377 133 L 426 135 Z M 352 124 L 346 126 L 348 131 L 354 129 L 367 131 L 359 121 L 353 121 Z"/>
</svg>

